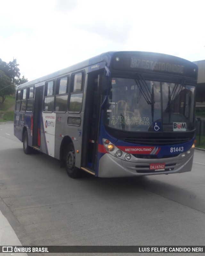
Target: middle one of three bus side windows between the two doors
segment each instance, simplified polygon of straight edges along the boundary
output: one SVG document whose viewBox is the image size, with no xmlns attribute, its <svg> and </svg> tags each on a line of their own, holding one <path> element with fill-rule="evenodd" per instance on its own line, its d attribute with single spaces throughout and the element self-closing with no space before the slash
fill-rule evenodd
<svg viewBox="0 0 205 256">
<path fill-rule="evenodd" d="M 69 77 L 57 80 L 55 93 L 55 112 L 66 112 L 68 105 Z"/>
</svg>

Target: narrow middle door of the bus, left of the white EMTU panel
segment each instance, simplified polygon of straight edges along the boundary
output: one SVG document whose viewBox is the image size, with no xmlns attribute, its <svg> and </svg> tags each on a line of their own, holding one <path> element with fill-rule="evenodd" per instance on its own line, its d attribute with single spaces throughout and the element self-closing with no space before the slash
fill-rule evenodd
<svg viewBox="0 0 205 256">
<path fill-rule="evenodd" d="M 43 86 L 36 87 L 34 98 L 34 111 L 33 111 L 33 146 L 35 149 L 40 150 L 40 136 L 41 136 L 41 111 L 43 101 Z"/>
</svg>

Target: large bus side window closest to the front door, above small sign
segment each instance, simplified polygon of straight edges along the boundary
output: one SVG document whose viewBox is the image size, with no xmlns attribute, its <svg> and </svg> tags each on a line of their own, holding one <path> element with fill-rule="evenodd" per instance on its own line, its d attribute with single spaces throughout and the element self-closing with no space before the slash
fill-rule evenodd
<svg viewBox="0 0 205 256">
<path fill-rule="evenodd" d="M 83 73 L 76 73 L 71 76 L 69 112 L 79 113 L 83 102 Z"/>
</svg>

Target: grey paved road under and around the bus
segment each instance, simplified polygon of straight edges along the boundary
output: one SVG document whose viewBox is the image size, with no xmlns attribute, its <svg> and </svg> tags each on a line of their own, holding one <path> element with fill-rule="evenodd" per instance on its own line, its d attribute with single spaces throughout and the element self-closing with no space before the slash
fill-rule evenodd
<svg viewBox="0 0 205 256">
<path fill-rule="evenodd" d="M 71 179 L 58 160 L 25 155 L 13 124 L 0 124 L 0 210 L 2 245 L 202 246 L 205 152 L 195 150 L 188 173 Z"/>
</svg>

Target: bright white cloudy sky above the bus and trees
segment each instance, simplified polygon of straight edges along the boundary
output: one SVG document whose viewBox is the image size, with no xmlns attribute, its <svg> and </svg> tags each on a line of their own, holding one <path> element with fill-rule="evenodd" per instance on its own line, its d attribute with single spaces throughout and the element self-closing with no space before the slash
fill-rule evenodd
<svg viewBox="0 0 205 256">
<path fill-rule="evenodd" d="M 0 58 L 29 81 L 107 51 L 205 59 L 203 0 L 0 0 Z"/>
</svg>

